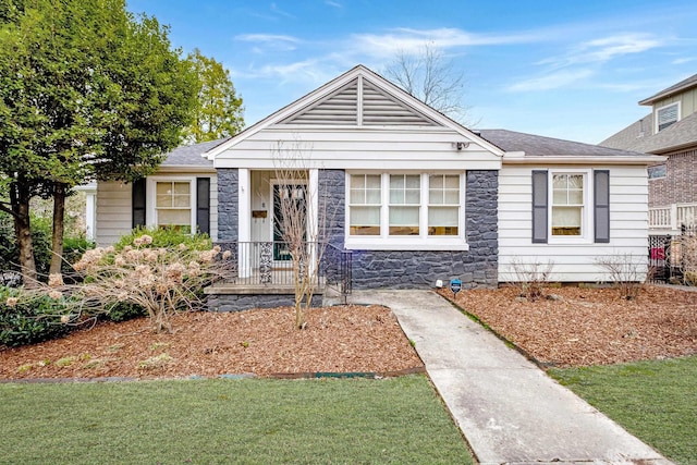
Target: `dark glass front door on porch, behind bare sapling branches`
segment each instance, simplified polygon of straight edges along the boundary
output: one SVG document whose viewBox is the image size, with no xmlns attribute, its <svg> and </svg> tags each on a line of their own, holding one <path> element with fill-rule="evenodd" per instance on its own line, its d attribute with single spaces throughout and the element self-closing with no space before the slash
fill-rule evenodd
<svg viewBox="0 0 697 465">
<path fill-rule="evenodd" d="M 305 184 L 273 184 L 273 260 L 292 259 L 286 237 L 307 237 L 307 188 Z"/>
</svg>

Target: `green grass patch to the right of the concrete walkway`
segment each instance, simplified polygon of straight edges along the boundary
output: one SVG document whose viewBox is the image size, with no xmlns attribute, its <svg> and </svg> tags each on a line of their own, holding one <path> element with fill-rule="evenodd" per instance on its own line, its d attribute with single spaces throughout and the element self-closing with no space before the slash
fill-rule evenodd
<svg viewBox="0 0 697 465">
<path fill-rule="evenodd" d="M 549 374 L 668 458 L 697 464 L 697 356 Z"/>
</svg>

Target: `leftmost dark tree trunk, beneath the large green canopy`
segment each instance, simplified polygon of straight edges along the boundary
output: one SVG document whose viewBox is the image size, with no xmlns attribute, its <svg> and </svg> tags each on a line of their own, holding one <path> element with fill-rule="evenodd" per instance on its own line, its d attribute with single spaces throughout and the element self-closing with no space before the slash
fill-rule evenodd
<svg viewBox="0 0 697 465">
<path fill-rule="evenodd" d="M 14 217 L 14 234 L 20 249 L 20 269 L 25 287 L 36 287 L 36 262 L 34 261 L 34 244 L 32 242 L 32 225 L 29 224 L 29 189 L 24 185 L 24 178 L 20 176 L 10 188 L 10 201 Z"/>
</svg>

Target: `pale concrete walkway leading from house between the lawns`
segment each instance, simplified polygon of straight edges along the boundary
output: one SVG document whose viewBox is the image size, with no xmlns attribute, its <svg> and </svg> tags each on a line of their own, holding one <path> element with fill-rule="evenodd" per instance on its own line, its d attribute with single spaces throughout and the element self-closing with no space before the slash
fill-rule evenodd
<svg viewBox="0 0 697 465">
<path fill-rule="evenodd" d="M 480 464 L 671 464 L 430 291 L 354 291 L 394 311 Z"/>
</svg>

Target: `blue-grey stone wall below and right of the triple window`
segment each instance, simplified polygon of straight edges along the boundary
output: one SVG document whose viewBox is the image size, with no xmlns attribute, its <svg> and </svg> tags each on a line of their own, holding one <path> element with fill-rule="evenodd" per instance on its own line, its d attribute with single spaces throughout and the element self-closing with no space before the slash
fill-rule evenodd
<svg viewBox="0 0 697 465">
<path fill-rule="evenodd" d="M 469 250 L 354 250 L 353 287 L 429 289 L 453 278 L 465 289 L 497 286 L 499 172 L 467 171 L 465 188 Z"/>
</svg>

